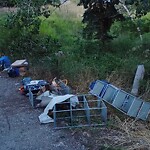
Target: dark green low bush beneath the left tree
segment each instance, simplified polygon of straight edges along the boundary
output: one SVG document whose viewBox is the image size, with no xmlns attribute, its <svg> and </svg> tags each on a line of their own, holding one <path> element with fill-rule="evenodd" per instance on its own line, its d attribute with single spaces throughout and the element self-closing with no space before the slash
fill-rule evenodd
<svg viewBox="0 0 150 150">
<path fill-rule="evenodd" d="M 9 53 L 13 57 L 41 59 L 59 49 L 59 42 L 50 36 L 24 35 L 16 37 L 9 45 Z"/>
</svg>

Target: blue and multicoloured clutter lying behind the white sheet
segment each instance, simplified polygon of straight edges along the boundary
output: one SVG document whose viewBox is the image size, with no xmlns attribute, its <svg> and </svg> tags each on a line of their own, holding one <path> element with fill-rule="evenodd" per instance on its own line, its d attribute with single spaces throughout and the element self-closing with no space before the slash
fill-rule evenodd
<svg viewBox="0 0 150 150">
<path fill-rule="evenodd" d="M 20 87 L 20 92 L 23 95 L 29 95 L 29 90 L 36 96 L 44 94 L 49 91 L 49 93 L 55 95 L 65 95 L 71 93 L 71 88 L 67 85 L 67 81 L 57 79 L 56 77 L 51 83 L 46 80 L 32 80 L 30 77 L 26 77 L 22 80 L 22 86 Z"/>
</svg>

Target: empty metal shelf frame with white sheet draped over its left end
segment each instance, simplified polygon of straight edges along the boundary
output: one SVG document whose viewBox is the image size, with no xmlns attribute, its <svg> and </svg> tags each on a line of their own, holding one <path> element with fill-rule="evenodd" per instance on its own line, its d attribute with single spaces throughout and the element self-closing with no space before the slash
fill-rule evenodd
<svg viewBox="0 0 150 150">
<path fill-rule="evenodd" d="M 32 100 L 33 94 L 31 91 L 30 93 Z M 107 107 L 103 101 L 90 94 L 55 96 L 39 116 L 39 120 L 41 123 L 53 122 L 55 129 L 104 126 L 107 122 Z"/>
</svg>

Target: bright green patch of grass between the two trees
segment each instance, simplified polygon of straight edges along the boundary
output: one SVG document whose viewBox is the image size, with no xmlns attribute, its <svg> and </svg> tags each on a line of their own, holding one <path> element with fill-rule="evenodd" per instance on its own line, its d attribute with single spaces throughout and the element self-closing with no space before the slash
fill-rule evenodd
<svg viewBox="0 0 150 150">
<path fill-rule="evenodd" d="M 40 34 L 50 35 L 60 41 L 62 51 L 70 51 L 70 47 L 77 46 L 74 42 L 82 30 L 81 23 L 78 20 L 68 19 L 68 17 L 64 17 L 57 12 L 46 20 L 43 17 L 41 19 L 43 21 L 40 26 Z"/>
</svg>

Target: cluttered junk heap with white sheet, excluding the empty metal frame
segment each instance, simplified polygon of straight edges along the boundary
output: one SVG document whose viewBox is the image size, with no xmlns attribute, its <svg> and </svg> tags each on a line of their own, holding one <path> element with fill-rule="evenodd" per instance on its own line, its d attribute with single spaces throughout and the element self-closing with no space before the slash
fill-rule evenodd
<svg viewBox="0 0 150 150">
<path fill-rule="evenodd" d="M 77 97 L 71 94 L 72 90 L 67 85 L 66 79 L 61 80 L 55 77 L 49 83 L 45 80 L 32 80 L 30 77 L 26 77 L 22 80 L 22 85 L 19 90 L 21 94 L 29 96 L 33 108 L 46 107 L 48 105 L 48 109 L 46 107 L 46 113 L 39 116 L 41 123 L 53 122 L 53 119 L 47 114 L 49 110 L 53 110 L 54 105 L 57 103 L 61 103 L 68 98 L 71 98 L 71 104 L 74 107 L 79 103 Z M 64 106 L 61 106 L 61 109 Z"/>
</svg>

